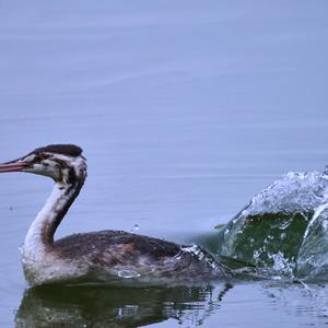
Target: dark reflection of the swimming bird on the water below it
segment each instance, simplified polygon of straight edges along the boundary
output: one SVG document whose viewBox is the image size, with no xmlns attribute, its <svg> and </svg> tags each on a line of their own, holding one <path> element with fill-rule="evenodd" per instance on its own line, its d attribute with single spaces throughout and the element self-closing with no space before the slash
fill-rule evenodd
<svg viewBox="0 0 328 328">
<path fill-rule="evenodd" d="M 199 326 L 220 307 L 229 283 L 215 288 L 43 286 L 26 290 L 15 327 L 140 327 L 169 318 Z"/>
</svg>

